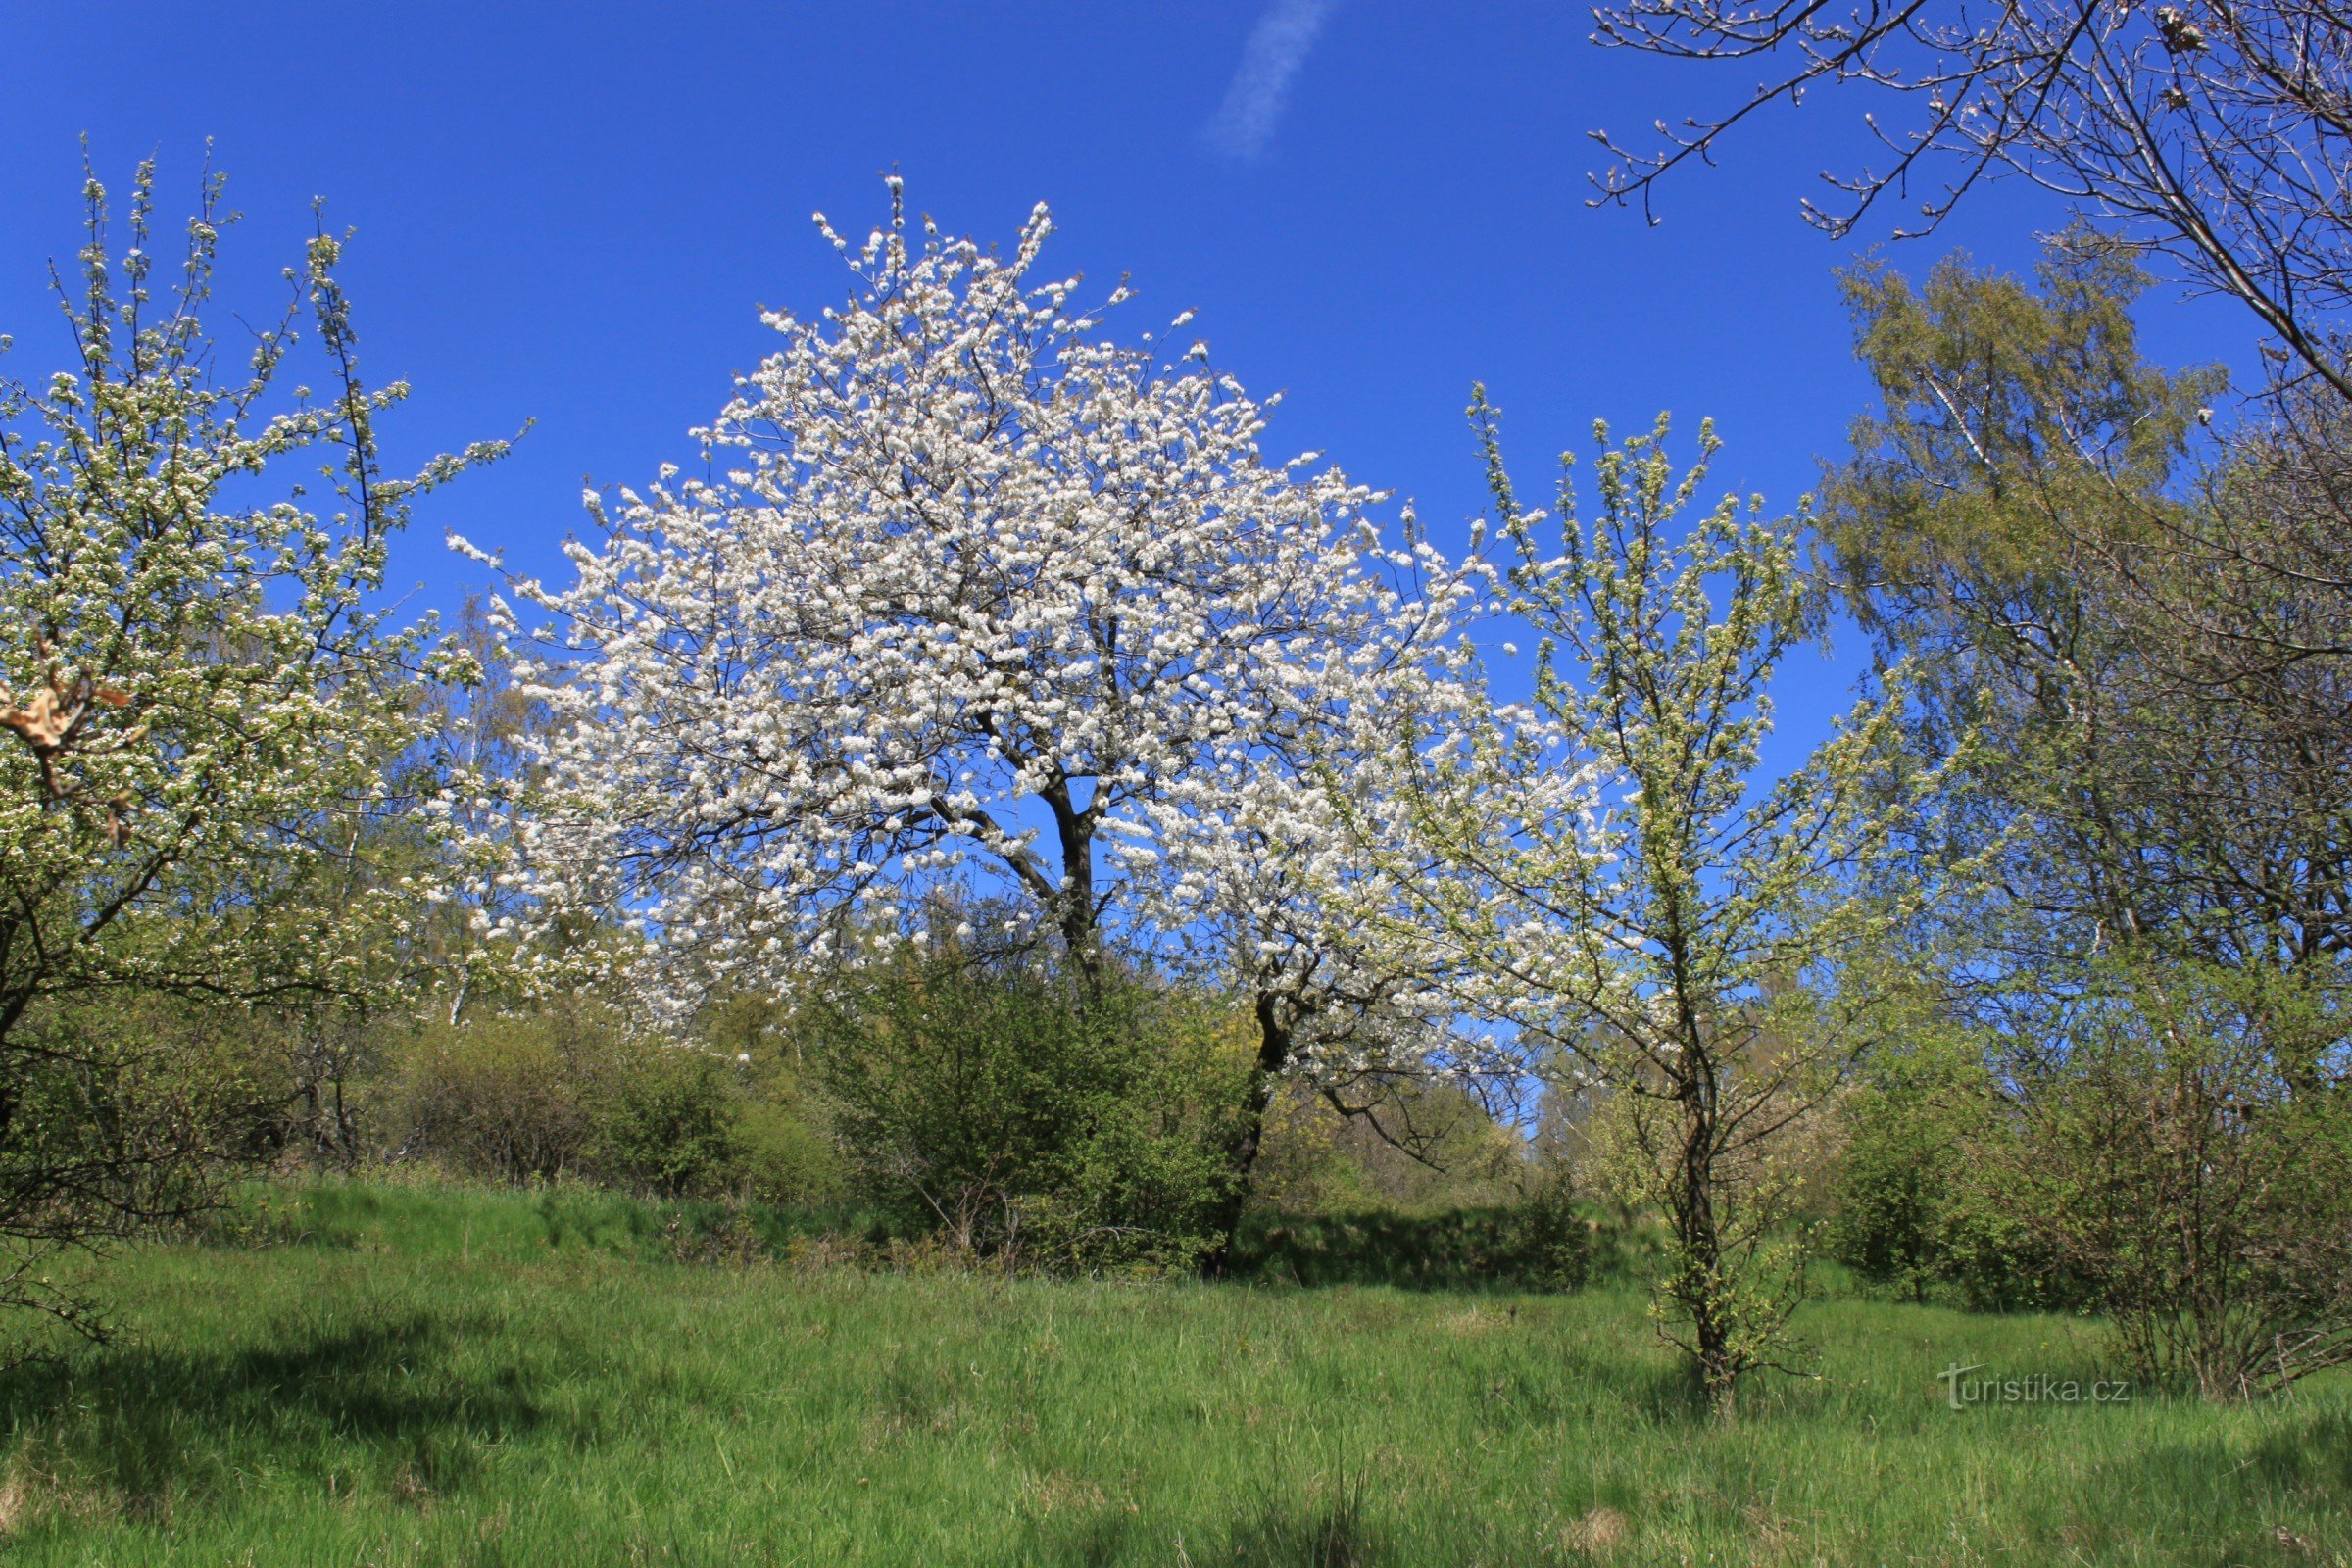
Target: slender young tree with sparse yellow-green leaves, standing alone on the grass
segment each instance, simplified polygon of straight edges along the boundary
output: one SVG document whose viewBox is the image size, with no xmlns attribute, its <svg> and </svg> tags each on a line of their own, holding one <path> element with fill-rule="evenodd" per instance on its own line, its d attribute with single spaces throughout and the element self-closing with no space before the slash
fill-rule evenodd
<svg viewBox="0 0 2352 1568">
<path fill-rule="evenodd" d="M 1505 607 L 1543 639 L 1536 686 L 1524 708 L 1414 726 L 1388 757 L 1409 802 L 1383 849 L 1388 931 L 1606 1100 L 1618 1164 L 1672 1232 L 1663 1333 L 1729 1415 L 1797 1300 L 1776 1239 L 1785 1143 L 1884 1011 L 1830 971 L 1926 898 L 1875 886 L 1924 797 L 1900 686 L 1764 778 L 1771 677 L 1818 614 L 1802 520 L 1726 498 L 1679 534 L 1715 437 L 1677 480 L 1661 421 L 1621 449 L 1599 435 L 1599 515 L 1578 520 L 1562 482 L 1555 552 L 1484 395 L 1472 414 L 1517 548 Z"/>
</svg>

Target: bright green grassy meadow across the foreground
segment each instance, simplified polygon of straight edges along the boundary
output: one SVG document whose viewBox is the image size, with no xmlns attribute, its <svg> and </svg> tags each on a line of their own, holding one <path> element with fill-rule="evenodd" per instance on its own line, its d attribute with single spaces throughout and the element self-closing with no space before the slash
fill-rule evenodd
<svg viewBox="0 0 2352 1568">
<path fill-rule="evenodd" d="M 2070 1319 L 1820 1305 L 1823 1375 L 1715 1427 L 1621 1288 L 680 1265 L 668 1218 L 325 1187 L 113 1260 L 125 1340 L 0 1380 L 0 1561 L 2352 1561 L 2345 1382 L 1945 1408 L 2100 1375 Z"/>
</svg>

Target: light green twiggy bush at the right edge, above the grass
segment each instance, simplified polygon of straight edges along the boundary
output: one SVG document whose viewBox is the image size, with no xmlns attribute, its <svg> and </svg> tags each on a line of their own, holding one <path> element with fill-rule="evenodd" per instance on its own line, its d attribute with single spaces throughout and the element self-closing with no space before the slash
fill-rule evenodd
<svg viewBox="0 0 2352 1568">
<path fill-rule="evenodd" d="M 2020 1072 L 2020 1192 L 2140 1378 L 2239 1399 L 2352 1361 L 2352 1091 L 2333 997 L 2114 966 Z"/>
</svg>

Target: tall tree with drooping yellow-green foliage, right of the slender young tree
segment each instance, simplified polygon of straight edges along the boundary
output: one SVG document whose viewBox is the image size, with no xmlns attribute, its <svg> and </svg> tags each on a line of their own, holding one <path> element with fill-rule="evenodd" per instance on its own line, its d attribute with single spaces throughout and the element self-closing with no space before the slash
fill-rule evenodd
<svg viewBox="0 0 2352 1568">
<path fill-rule="evenodd" d="M 2169 922 L 2197 900 L 2176 875 L 2194 835 L 2169 809 L 2180 780 L 2150 745 L 2145 654 L 2098 562 L 2176 510 L 2166 487 L 2216 376 L 2140 360 L 2145 277 L 2117 256 L 2056 252 L 2039 294 L 1957 259 L 1917 292 L 1875 268 L 1846 287 L 1884 414 L 1856 421 L 1823 536 L 1882 654 L 1922 670 L 1924 743 L 1994 741 L 1964 830 L 2009 844 L 2020 947 L 2089 952 Z"/>
</svg>

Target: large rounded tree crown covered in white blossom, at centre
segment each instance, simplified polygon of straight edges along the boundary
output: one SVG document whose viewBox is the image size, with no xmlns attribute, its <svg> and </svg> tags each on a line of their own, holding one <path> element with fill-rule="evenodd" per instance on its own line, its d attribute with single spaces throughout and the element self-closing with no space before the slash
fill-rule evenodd
<svg viewBox="0 0 2352 1568">
<path fill-rule="evenodd" d="M 590 496 L 576 583 L 513 583 L 553 717 L 517 929 L 590 912 L 673 973 L 793 985 L 962 884 L 1080 966 L 1244 983 L 1268 1070 L 1411 1013 L 1322 919 L 1329 792 L 1376 705 L 1454 679 L 1465 578 L 1268 461 L 1207 348 L 1112 341 L 1124 287 L 1042 280 L 1044 207 L 1009 256 L 910 233 L 896 181 L 863 244 L 818 228 L 849 303 L 769 315 L 703 473 Z"/>
</svg>

